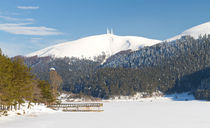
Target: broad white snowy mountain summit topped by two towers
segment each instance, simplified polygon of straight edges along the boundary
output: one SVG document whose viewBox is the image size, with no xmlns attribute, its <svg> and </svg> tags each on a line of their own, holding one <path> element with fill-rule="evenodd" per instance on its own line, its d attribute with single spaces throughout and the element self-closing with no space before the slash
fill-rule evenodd
<svg viewBox="0 0 210 128">
<path fill-rule="evenodd" d="M 138 50 L 140 47 L 151 46 L 159 42 L 159 40 L 143 37 L 103 34 L 50 46 L 26 56 L 67 56 L 93 59 L 93 57 L 102 55 L 102 53 L 109 57 L 123 50 Z"/>
</svg>

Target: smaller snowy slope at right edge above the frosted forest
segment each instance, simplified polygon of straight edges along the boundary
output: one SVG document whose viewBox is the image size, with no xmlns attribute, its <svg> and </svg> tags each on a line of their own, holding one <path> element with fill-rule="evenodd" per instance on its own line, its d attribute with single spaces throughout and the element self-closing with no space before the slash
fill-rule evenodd
<svg viewBox="0 0 210 128">
<path fill-rule="evenodd" d="M 166 41 L 177 40 L 177 39 L 180 39 L 182 36 L 187 36 L 187 35 L 190 35 L 193 38 L 197 39 L 200 35 L 203 36 L 205 34 L 210 34 L 210 22 L 206 22 L 204 24 L 200 24 L 198 26 L 187 29 L 181 34 L 174 36 L 170 39 L 167 39 Z"/>
</svg>

